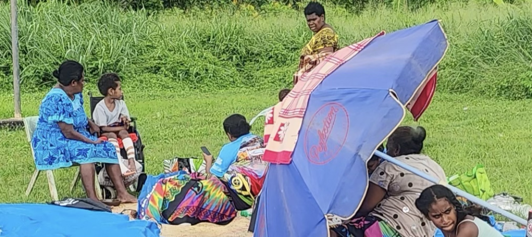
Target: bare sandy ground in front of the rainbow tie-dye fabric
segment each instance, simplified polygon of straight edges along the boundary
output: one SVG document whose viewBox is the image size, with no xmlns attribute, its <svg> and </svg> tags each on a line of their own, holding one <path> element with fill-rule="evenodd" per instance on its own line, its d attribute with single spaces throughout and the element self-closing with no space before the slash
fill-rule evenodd
<svg viewBox="0 0 532 237">
<path fill-rule="evenodd" d="M 136 210 L 137 204 L 122 204 L 113 207 L 113 213 L 121 213 L 123 210 Z M 252 233 L 247 232 L 250 220 L 237 216 L 228 225 L 214 225 L 201 223 L 195 226 L 184 225 L 162 225 L 162 237 L 252 237 Z"/>
</svg>

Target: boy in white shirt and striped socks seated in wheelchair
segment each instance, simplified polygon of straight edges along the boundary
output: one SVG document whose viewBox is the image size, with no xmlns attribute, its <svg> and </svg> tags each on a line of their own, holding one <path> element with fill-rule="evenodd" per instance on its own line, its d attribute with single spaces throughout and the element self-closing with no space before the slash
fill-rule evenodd
<svg viewBox="0 0 532 237">
<path fill-rule="evenodd" d="M 122 100 L 120 77 L 117 73 L 105 73 L 98 80 L 98 89 L 105 97 L 94 108 L 94 122 L 100 127 L 101 135 L 117 150 L 122 176 L 132 179 L 133 182 L 142 171 L 142 165 L 135 160 L 135 148 L 128 132 L 131 119 L 126 103 Z M 122 140 L 127 160 L 122 159 L 118 138 Z"/>
</svg>

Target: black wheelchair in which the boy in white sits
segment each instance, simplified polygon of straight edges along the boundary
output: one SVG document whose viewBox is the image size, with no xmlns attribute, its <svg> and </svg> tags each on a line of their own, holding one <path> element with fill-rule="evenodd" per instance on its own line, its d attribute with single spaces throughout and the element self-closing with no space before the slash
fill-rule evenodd
<svg viewBox="0 0 532 237">
<path fill-rule="evenodd" d="M 96 104 L 98 104 L 100 101 L 103 100 L 103 96 L 93 96 L 91 92 L 89 92 L 89 101 L 90 101 L 90 118 L 93 118 L 94 109 L 96 108 Z M 123 96 L 122 96 L 123 100 Z M 131 136 L 131 140 L 133 141 L 133 146 L 135 148 L 135 160 L 137 160 L 140 165 L 142 165 L 142 172 L 145 173 L 145 164 L 144 164 L 144 144 L 142 144 L 142 139 L 140 138 L 140 134 L 137 130 L 137 119 L 134 117 L 131 117 L 131 126 L 129 126 L 128 129 L 129 135 Z M 122 155 L 123 159 L 127 158 L 126 150 L 123 149 L 122 141 L 120 138 L 118 138 L 120 146 L 120 153 Z M 98 174 L 100 170 L 103 169 L 102 164 L 98 164 L 96 166 L 96 173 Z"/>
</svg>

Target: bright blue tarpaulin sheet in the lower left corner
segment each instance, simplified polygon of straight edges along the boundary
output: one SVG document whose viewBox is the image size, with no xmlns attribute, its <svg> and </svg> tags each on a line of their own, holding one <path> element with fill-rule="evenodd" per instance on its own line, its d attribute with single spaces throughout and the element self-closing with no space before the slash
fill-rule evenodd
<svg viewBox="0 0 532 237">
<path fill-rule="evenodd" d="M 159 237 L 157 224 L 127 215 L 46 204 L 0 204 L 1 237 Z"/>
</svg>

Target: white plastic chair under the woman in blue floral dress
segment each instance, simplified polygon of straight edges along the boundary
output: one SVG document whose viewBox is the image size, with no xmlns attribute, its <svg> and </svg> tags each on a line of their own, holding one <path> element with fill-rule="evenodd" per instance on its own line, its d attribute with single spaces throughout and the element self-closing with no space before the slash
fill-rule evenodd
<svg viewBox="0 0 532 237">
<path fill-rule="evenodd" d="M 38 116 L 31 116 L 31 117 L 26 117 L 23 119 L 24 130 L 26 130 L 26 137 L 28 138 L 28 142 L 30 143 L 31 156 L 34 158 L 34 160 L 35 160 L 35 151 L 33 149 L 33 146 L 31 145 L 31 138 L 33 137 L 35 128 L 37 127 L 38 118 L 39 118 Z M 74 165 L 74 166 L 78 166 L 78 165 Z M 55 187 L 54 173 L 53 173 L 53 170 L 51 169 L 39 170 L 35 168 L 35 171 L 33 175 L 31 176 L 30 183 L 28 184 L 28 189 L 26 189 L 26 196 L 29 196 L 31 193 L 31 190 L 33 190 L 35 182 L 37 181 L 37 177 L 39 177 L 40 171 L 46 171 L 46 178 L 48 179 L 48 189 L 50 190 L 50 195 L 52 197 L 52 200 L 53 201 L 59 200 L 59 198 L 57 197 L 57 188 Z M 78 170 L 76 171 L 76 174 L 74 175 L 74 180 L 72 181 L 72 184 L 70 185 L 71 192 L 76 186 L 76 184 L 78 183 L 79 178 L 80 178 L 80 173 L 79 173 L 79 168 L 78 168 Z M 97 176 L 95 176 L 94 186 L 96 189 L 96 197 L 98 197 L 98 199 L 102 199 L 102 190 L 100 189 Z"/>
</svg>

